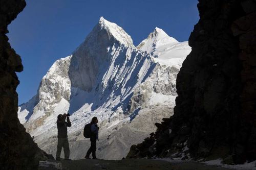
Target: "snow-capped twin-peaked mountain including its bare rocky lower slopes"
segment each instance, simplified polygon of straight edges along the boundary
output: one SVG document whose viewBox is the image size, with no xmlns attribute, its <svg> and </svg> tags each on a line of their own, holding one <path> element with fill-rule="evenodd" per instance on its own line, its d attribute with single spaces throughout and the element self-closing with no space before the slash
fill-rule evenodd
<svg viewBox="0 0 256 170">
<path fill-rule="evenodd" d="M 83 127 L 97 116 L 98 158 L 121 159 L 155 131 L 155 122 L 172 114 L 176 76 L 190 50 L 158 28 L 135 47 L 122 28 L 101 17 L 71 56 L 52 65 L 37 94 L 20 105 L 19 120 L 55 156 L 56 117 L 69 112 L 71 158 L 80 159 L 90 146 Z"/>
</svg>

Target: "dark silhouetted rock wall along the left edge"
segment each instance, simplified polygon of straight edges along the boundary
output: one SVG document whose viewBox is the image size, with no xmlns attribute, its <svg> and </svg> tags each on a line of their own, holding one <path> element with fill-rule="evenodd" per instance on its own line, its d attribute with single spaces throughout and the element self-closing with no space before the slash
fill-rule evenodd
<svg viewBox="0 0 256 170">
<path fill-rule="evenodd" d="M 0 1 L 0 165 L 1 169 L 36 169 L 39 148 L 17 117 L 19 84 L 15 71 L 23 70 L 20 57 L 11 48 L 7 26 L 26 6 L 22 0 Z"/>
</svg>

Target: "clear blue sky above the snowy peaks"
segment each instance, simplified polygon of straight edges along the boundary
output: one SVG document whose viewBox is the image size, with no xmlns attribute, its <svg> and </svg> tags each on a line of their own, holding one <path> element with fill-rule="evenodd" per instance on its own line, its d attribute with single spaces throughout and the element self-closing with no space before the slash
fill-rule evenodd
<svg viewBox="0 0 256 170">
<path fill-rule="evenodd" d="M 135 45 L 163 29 L 187 41 L 198 22 L 197 0 L 26 0 L 27 6 L 9 25 L 9 42 L 22 58 L 18 73 L 19 104 L 36 94 L 41 78 L 59 58 L 69 56 L 103 16 L 115 22 Z"/>
</svg>

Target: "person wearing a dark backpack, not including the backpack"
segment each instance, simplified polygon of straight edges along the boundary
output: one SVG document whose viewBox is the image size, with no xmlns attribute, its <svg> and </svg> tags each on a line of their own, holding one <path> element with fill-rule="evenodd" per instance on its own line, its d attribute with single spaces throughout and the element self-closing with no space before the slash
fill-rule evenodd
<svg viewBox="0 0 256 170">
<path fill-rule="evenodd" d="M 86 159 L 90 159 L 90 154 L 93 153 L 93 159 L 97 159 L 96 158 L 96 140 L 98 139 L 98 135 L 99 135 L 99 127 L 97 126 L 98 123 L 98 119 L 97 117 L 93 117 L 92 118 L 92 122 L 91 122 L 91 132 L 92 135 L 90 137 L 90 141 L 91 141 L 91 147 L 89 148 L 89 150 L 87 151 L 87 154 L 84 158 Z"/>
</svg>

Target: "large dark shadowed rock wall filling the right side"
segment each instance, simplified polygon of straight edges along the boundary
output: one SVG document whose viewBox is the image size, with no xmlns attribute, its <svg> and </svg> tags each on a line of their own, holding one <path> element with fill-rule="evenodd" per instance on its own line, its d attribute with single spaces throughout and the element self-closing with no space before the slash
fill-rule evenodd
<svg viewBox="0 0 256 170">
<path fill-rule="evenodd" d="M 256 1 L 201 0 L 198 9 L 174 115 L 127 157 L 256 159 Z"/>
</svg>

